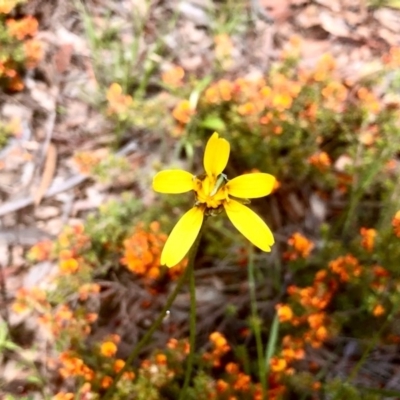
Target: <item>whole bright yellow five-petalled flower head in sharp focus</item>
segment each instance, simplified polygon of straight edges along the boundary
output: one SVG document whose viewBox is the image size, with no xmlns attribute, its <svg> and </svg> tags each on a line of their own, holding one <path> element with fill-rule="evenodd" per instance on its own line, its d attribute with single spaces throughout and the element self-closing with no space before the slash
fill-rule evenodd
<svg viewBox="0 0 400 400">
<path fill-rule="evenodd" d="M 153 189 L 159 193 L 195 192 L 196 202 L 172 230 L 161 254 L 161 264 L 173 267 L 181 261 L 196 240 L 204 215 L 215 215 L 225 209 L 233 225 L 250 242 L 263 251 L 271 251 L 272 232 L 265 222 L 242 202 L 236 200 L 267 196 L 274 188 L 275 178 L 253 173 L 228 180 L 222 173 L 228 163 L 229 142 L 214 132 L 204 153 L 205 174 L 194 176 L 182 170 L 159 172 Z"/>
</svg>

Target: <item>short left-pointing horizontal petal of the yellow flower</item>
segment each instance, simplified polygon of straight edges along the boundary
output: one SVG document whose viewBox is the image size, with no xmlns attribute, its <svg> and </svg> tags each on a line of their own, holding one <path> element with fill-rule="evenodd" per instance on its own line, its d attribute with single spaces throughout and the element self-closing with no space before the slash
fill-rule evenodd
<svg viewBox="0 0 400 400">
<path fill-rule="evenodd" d="M 153 178 L 153 189 L 159 193 L 185 193 L 193 190 L 193 175 L 180 169 L 160 171 Z"/>
</svg>

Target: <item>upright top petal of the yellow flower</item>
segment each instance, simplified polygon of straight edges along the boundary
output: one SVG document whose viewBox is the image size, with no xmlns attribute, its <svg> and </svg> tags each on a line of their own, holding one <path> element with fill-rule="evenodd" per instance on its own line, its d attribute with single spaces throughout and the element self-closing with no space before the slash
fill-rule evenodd
<svg viewBox="0 0 400 400">
<path fill-rule="evenodd" d="M 219 138 L 218 133 L 214 132 L 208 139 L 204 152 L 204 169 L 208 176 L 216 177 L 228 164 L 230 152 L 229 142 Z"/>
</svg>

